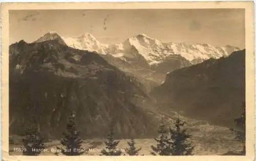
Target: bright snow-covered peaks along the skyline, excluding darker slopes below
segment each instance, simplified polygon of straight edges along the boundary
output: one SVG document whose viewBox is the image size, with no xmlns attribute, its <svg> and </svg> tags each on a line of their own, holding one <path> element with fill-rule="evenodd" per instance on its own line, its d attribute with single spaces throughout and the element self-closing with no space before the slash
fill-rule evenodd
<svg viewBox="0 0 256 161">
<path fill-rule="evenodd" d="M 172 55 L 180 55 L 187 61 L 196 64 L 209 58 L 221 58 L 231 52 L 240 50 L 238 47 L 226 45 L 215 47 L 209 44 L 164 43 L 145 34 L 138 34 L 118 44 L 102 44 L 93 35 L 86 33 L 77 38 L 62 37 L 56 32 L 49 32 L 35 42 L 58 39 L 68 46 L 89 51 L 97 51 L 101 55 L 112 55 L 124 61 L 141 57 L 148 65 L 158 65 Z M 136 51 L 136 52 L 132 52 Z"/>
</svg>

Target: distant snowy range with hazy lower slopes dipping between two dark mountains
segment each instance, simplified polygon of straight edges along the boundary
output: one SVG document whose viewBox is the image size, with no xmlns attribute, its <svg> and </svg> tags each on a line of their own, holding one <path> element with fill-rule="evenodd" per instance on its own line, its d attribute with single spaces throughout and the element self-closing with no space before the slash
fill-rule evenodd
<svg viewBox="0 0 256 161">
<path fill-rule="evenodd" d="M 49 32 L 35 42 L 57 40 L 72 48 L 96 51 L 110 64 L 137 77 L 147 91 L 163 83 L 165 75 L 176 69 L 195 65 L 210 58 L 227 57 L 238 47 L 209 44 L 164 43 L 145 34 L 138 34 L 122 43 L 102 44 L 92 34 L 77 38 Z"/>
</svg>

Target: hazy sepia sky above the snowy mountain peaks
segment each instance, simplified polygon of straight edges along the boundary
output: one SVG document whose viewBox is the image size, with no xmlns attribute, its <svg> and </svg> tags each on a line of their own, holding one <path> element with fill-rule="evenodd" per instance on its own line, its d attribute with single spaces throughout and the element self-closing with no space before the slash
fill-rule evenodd
<svg viewBox="0 0 256 161">
<path fill-rule="evenodd" d="M 16 10 L 9 15 L 10 44 L 55 31 L 64 37 L 91 33 L 102 43 L 144 33 L 163 42 L 245 47 L 243 9 Z"/>
</svg>

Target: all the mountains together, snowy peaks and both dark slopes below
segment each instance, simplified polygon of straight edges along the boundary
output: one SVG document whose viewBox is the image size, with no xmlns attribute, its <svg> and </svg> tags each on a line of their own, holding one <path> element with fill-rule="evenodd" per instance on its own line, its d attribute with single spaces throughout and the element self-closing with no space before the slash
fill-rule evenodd
<svg viewBox="0 0 256 161">
<path fill-rule="evenodd" d="M 36 115 L 43 135 L 59 138 L 70 111 L 83 138 L 105 137 L 110 126 L 117 137 L 152 137 L 159 111 L 168 117 L 177 109 L 230 126 L 245 99 L 245 50 L 197 45 L 162 43 L 144 34 L 104 45 L 91 34 L 64 38 L 54 32 L 14 43 L 9 46 L 10 133 L 24 135 Z"/>
</svg>

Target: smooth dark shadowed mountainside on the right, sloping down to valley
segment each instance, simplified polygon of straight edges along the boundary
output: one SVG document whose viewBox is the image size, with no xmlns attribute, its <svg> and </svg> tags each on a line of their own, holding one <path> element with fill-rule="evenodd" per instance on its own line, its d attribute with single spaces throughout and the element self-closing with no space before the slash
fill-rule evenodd
<svg viewBox="0 0 256 161">
<path fill-rule="evenodd" d="M 151 95 L 167 111 L 232 127 L 245 101 L 245 50 L 175 70 Z"/>
</svg>

